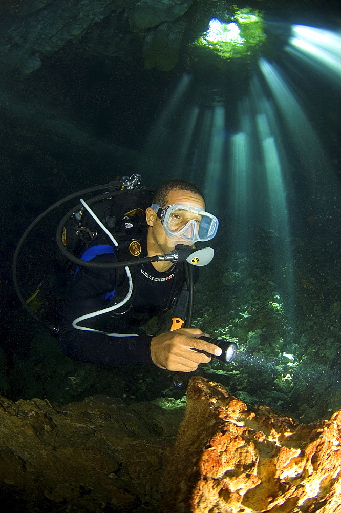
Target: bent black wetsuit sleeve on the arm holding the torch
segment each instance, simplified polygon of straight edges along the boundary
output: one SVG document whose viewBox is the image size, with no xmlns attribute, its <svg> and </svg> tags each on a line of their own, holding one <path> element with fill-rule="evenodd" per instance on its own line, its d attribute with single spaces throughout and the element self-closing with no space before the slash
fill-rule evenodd
<svg viewBox="0 0 341 513">
<path fill-rule="evenodd" d="M 104 254 L 93 259 L 93 262 L 112 262 L 113 260 L 112 254 Z M 99 365 L 153 363 L 150 350 L 152 336 L 138 334 L 136 337 L 110 337 L 102 333 L 78 330 L 72 326 L 72 322 L 81 315 L 107 306 L 104 304 L 105 294 L 115 289 L 117 280 L 116 269 L 79 268 L 70 287 L 60 320 L 59 346 L 66 356 Z M 95 321 L 80 324 L 92 327 Z M 136 332 L 134 328 L 127 331 L 127 333 L 134 332 Z"/>
</svg>

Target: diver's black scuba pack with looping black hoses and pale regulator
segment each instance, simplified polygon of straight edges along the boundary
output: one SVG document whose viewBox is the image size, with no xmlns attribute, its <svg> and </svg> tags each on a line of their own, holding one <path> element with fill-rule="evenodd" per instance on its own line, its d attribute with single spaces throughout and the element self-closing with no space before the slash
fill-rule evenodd
<svg viewBox="0 0 341 513">
<path fill-rule="evenodd" d="M 86 196 L 94 192 L 98 192 L 98 195 L 84 200 Z M 78 256 L 83 255 L 87 247 L 96 247 L 96 239 L 100 240 L 106 238 L 109 245 L 116 247 L 134 245 L 134 242 L 138 242 L 143 235 L 145 227 L 144 212 L 152 203 L 152 195 L 152 190 L 141 186 L 140 175 L 123 177 L 119 181 L 84 189 L 63 198 L 42 212 L 42 214 L 30 224 L 15 250 L 13 258 L 13 280 L 20 301 L 32 317 L 39 322 L 43 322 L 53 333 L 56 334 L 58 332 L 58 328 L 56 327 L 58 308 L 62 302 L 62 296 L 66 291 L 68 281 L 71 281 L 79 265 L 92 268 L 121 268 L 121 272 L 126 272 L 129 278 L 129 268 L 131 266 L 163 260 L 185 263 L 187 280 L 181 299 L 179 298 L 176 313 L 177 319 L 182 322 L 181 325 L 179 325 L 178 321 L 174 326 L 190 326 L 191 306 L 193 303 L 191 265 L 206 265 L 209 263 L 214 254 L 212 248 L 206 247 L 198 249 L 178 245 L 171 253 L 145 258 L 140 258 L 138 254 L 134 255 L 134 251 L 130 251 L 130 254 L 134 255 L 135 258 L 106 264 L 92 262 L 91 260 L 86 261 Z M 63 216 L 56 230 L 56 242 L 63 255 L 63 259 L 56 259 L 55 267 L 58 269 L 58 272 L 64 274 L 61 280 L 62 287 L 58 287 L 60 280 L 56 280 L 55 275 L 50 273 L 47 277 L 39 281 L 39 285 L 34 293 L 31 294 L 28 300 L 25 300 L 17 278 L 17 261 L 20 250 L 27 240 L 29 233 L 36 227 L 40 220 L 58 207 L 74 200 L 76 197 L 80 198 L 80 203 Z M 132 282 L 130 278 L 129 280 L 130 290 L 125 298 L 126 301 L 132 293 Z M 186 301 L 184 301 L 184 298 L 186 298 Z M 52 322 L 51 317 L 53 317 Z"/>
</svg>

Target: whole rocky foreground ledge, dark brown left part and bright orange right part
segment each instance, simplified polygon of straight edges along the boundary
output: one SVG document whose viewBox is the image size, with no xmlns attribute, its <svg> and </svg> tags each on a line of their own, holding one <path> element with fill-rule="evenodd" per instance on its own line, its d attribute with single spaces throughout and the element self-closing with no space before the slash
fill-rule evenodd
<svg viewBox="0 0 341 513">
<path fill-rule="evenodd" d="M 217 383 L 195 376 L 172 446 L 182 411 L 160 405 L 128 406 L 106 396 L 63 407 L 2 398 L 5 510 L 341 510 L 341 412 L 295 425 L 265 406 L 250 411 Z"/>
</svg>

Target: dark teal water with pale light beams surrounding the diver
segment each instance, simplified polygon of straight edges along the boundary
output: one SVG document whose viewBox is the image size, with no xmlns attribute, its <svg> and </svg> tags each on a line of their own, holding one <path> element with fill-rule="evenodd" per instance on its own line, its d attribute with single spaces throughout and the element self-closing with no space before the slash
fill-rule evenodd
<svg viewBox="0 0 341 513">
<path fill-rule="evenodd" d="M 185 384 L 154 366 L 133 366 L 127 378 L 122 368 L 63 357 L 12 284 L 16 244 L 40 212 L 140 173 L 148 187 L 195 182 L 220 220 L 194 325 L 240 351 L 235 363 L 199 372 L 248 404 L 303 421 L 329 417 L 341 407 L 338 3 L 248 4 L 263 11 L 266 39 L 230 60 L 190 45 L 230 7 L 194 3 L 179 16 L 178 62 L 169 58 L 167 70 L 165 54 L 153 68 L 143 54 L 156 28 L 134 26 L 135 2 L 104 4 L 88 24 L 77 2 L 0 7 L 2 392 L 61 403 L 93 393 L 184 395 Z M 55 230 L 71 207 L 41 221 L 19 255 L 26 298 L 51 269 Z"/>
</svg>

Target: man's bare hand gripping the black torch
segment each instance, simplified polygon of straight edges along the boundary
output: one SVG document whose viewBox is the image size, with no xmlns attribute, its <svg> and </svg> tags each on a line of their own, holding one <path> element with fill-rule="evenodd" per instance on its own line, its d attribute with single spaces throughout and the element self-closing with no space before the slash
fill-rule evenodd
<svg viewBox="0 0 341 513">
<path fill-rule="evenodd" d="M 161 369 L 172 372 L 196 370 L 200 363 L 208 363 L 211 359 L 206 354 L 193 351 L 191 347 L 217 354 L 217 356 L 221 354 L 220 347 L 199 339 L 204 334 L 197 328 L 180 328 L 153 337 L 151 341 L 153 362 Z"/>
</svg>

